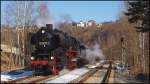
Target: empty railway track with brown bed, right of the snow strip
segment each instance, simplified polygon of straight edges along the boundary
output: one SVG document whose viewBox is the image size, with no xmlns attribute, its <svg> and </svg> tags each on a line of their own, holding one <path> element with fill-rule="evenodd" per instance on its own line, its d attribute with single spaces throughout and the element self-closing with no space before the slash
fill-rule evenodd
<svg viewBox="0 0 150 84">
<path fill-rule="evenodd" d="M 70 83 L 108 83 L 111 73 L 111 63 L 109 67 L 105 68 L 96 68 L 85 75 L 71 81 Z"/>
</svg>

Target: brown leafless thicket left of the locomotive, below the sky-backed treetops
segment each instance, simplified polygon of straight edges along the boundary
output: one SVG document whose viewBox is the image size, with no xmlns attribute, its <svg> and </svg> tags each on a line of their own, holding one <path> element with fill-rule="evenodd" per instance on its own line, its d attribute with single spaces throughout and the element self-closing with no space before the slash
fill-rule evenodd
<svg viewBox="0 0 150 84">
<path fill-rule="evenodd" d="M 30 32 L 36 32 L 37 27 L 25 27 L 23 30 L 3 26 L 1 28 L 1 45 L 10 47 L 11 52 L 1 52 L 1 69 L 11 70 L 14 67 L 24 67 L 30 65 L 31 45 L 30 45 Z M 18 54 L 12 53 L 13 48 L 18 49 Z"/>
</svg>

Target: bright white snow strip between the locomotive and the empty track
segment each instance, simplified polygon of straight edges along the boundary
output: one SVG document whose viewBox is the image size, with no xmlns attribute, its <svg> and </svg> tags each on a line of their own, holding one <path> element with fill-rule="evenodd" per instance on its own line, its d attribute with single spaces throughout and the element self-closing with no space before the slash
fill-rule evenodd
<svg viewBox="0 0 150 84">
<path fill-rule="evenodd" d="M 87 69 L 87 68 L 75 69 L 75 70 L 73 70 L 63 76 L 60 76 L 54 80 L 47 81 L 47 83 L 68 83 L 68 82 L 71 82 L 71 81 L 75 80 L 76 78 L 84 75 L 89 70 L 90 69 Z"/>
</svg>

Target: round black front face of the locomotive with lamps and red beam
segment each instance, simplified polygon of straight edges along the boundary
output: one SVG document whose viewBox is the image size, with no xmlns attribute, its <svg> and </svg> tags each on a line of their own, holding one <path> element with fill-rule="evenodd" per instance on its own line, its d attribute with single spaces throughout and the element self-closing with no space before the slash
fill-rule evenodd
<svg viewBox="0 0 150 84">
<path fill-rule="evenodd" d="M 56 57 L 51 56 L 52 50 L 56 49 L 60 45 L 60 38 L 53 33 L 52 24 L 47 24 L 46 27 L 41 29 L 32 35 L 31 44 L 34 47 L 31 56 L 31 66 L 35 74 L 56 74 L 55 68 Z"/>
</svg>

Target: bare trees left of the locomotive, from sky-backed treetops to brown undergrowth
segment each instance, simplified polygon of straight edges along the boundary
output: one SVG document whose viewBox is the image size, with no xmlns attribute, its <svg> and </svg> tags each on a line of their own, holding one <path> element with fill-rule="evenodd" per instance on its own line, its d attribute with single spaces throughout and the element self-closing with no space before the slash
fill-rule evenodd
<svg viewBox="0 0 150 84">
<path fill-rule="evenodd" d="M 6 58 L 9 58 L 9 60 L 1 61 L 2 65 L 7 61 L 10 62 L 9 64 L 6 63 L 5 67 L 25 67 L 30 64 L 31 50 L 28 35 L 29 32 L 37 30 L 33 25 L 35 25 L 35 20 L 40 15 L 41 10 L 39 9 L 42 6 L 41 4 L 34 1 L 5 2 L 5 11 L 3 11 L 4 15 L 2 16 L 3 25 L 1 25 L 1 44 L 10 46 L 11 50 L 13 47 L 16 47 L 20 51 L 18 55 L 11 52 L 1 52 L 2 57 L 6 56 Z"/>
</svg>

